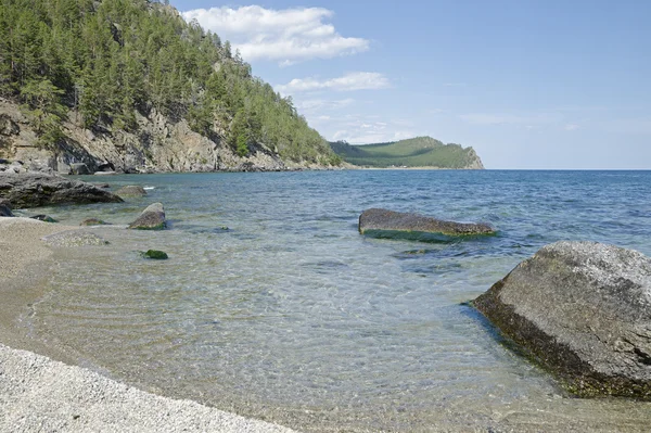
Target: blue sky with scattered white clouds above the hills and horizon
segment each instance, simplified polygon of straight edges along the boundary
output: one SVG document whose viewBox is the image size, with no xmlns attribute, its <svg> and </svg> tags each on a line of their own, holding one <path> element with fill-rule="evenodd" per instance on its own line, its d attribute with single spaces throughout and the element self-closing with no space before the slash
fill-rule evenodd
<svg viewBox="0 0 651 433">
<path fill-rule="evenodd" d="M 651 1 L 171 0 L 328 140 L 651 169 Z"/>
</svg>

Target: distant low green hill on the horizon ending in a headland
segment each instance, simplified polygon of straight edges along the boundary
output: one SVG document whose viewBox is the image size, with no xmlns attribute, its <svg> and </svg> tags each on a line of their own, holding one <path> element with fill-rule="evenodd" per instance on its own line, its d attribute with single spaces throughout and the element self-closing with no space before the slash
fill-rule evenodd
<svg viewBox="0 0 651 433">
<path fill-rule="evenodd" d="M 388 143 L 350 145 L 345 141 L 330 147 L 345 162 L 367 167 L 484 168 L 472 148 L 444 144 L 431 137 Z"/>
</svg>

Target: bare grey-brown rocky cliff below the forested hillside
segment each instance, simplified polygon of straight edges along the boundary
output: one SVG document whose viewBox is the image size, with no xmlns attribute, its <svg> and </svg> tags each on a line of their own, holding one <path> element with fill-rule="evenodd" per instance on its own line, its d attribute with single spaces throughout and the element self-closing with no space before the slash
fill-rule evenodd
<svg viewBox="0 0 651 433">
<path fill-rule="evenodd" d="M 137 115 L 138 127 L 132 132 L 84 129 L 77 116 L 68 113 L 63 124 L 66 138 L 56 150 L 39 149 L 34 128 L 18 105 L 0 99 L 0 158 L 22 161 L 30 169 L 62 173 L 68 173 L 75 163 L 86 164 L 91 171 L 111 167 L 118 173 L 322 168 L 285 162 L 260 144 L 240 157 L 219 137 L 196 133 L 186 120 L 173 123 L 155 110 L 148 116 Z"/>
</svg>

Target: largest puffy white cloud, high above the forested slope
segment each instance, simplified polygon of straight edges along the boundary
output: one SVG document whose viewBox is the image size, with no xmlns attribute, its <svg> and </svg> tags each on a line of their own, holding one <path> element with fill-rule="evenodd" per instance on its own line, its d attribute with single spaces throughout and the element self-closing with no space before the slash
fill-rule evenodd
<svg viewBox="0 0 651 433">
<path fill-rule="evenodd" d="M 265 9 L 258 5 L 195 9 L 182 13 L 205 29 L 230 40 L 246 61 L 277 61 L 281 65 L 309 59 L 332 59 L 369 49 L 362 38 L 340 35 L 332 24 L 332 11 L 323 8 Z"/>
</svg>

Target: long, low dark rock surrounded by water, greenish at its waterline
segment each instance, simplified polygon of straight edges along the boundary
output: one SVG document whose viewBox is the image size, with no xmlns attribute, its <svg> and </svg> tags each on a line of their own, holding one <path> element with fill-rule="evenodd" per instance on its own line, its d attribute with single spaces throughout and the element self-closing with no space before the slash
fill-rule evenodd
<svg viewBox="0 0 651 433">
<path fill-rule="evenodd" d="M 361 234 L 380 234 L 390 232 L 437 233 L 446 237 L 494 234 L 495 230 L 487 224 L 464 224 L 444 221 L 418 214 L 406 214 L 387 209 L 372 208 L 359 216 Z"/>
</svg>

